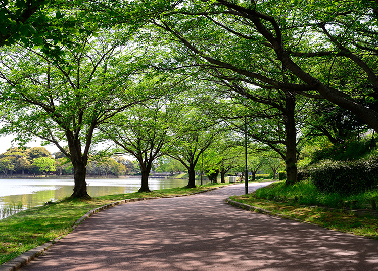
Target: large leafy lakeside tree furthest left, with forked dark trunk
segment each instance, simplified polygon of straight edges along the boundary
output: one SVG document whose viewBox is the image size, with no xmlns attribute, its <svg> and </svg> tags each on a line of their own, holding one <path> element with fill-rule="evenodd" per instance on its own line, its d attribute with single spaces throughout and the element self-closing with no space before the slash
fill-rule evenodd
<svg viewBox="0 0 378 271">
<path fill-rule="evenodd" d="M 135 87 L 137 67 L 120 46 L 126 39 L 117 30 L 98 38 L 83 32 L 76 36 L 80 47 L 63 47 L 61 59 L 21 47 L 1 53 L 1 132 L 17 134 L 20 144 L 35 136 L 55 144 L 74 169 L 72 197 L 88 197 L 86 164 L 98 126 L 153 95 Z"/>
</svg>

